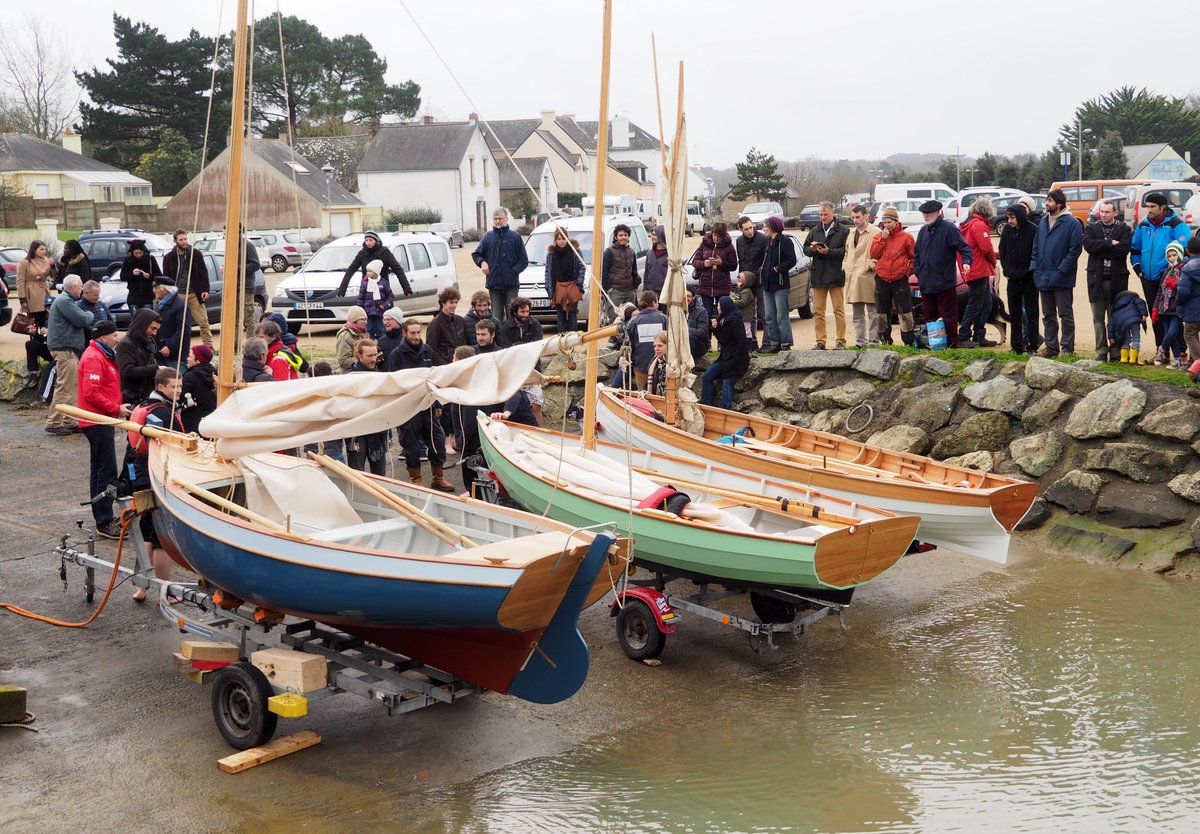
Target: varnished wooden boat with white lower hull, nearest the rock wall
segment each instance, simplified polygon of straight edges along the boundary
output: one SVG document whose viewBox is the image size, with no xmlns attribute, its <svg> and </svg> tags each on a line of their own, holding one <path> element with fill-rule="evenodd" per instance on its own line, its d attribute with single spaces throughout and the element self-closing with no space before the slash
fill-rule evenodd
<svg viewBox="0 0 1200 834">
<path fill-rule="evenodd" d="M 696 437 L 628 406 L 612 389 L 598 389 L 596 398 L 598 437 L 918 515 L 922 541 L 1001 564 L 1008 559 L 1009 533 L 1038 491 L 1037 484 L 710 406 L 700 407 L 704 433 Z M 664 408 L 661 397 L 644 400 Z M 739 431 L 743 439 L 719 442 Z"/>
</svg>

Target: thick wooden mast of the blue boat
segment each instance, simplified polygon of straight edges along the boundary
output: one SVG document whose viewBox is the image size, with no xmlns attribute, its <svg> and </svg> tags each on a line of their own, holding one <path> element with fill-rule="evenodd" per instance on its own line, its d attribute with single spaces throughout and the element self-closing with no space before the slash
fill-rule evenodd
<svg viewBox="0 0 1200 834">
<path fill-rule="evenodd" d="M 238 337 L 238 307 L 246 280 L 241 257 L 241 156 L 246 138 L 246 12 L 248 0 L 238 0 L 238 19 L 233 41 L 233 110 L 229 125 L 229 193 L 226 200 L 226 287 L 221 298 L 221 356 L 217 378 L 233 382 L 233 356 Z M 232 278 L 232 280 L 230 280 Z M 230 292 L 230 287 L 233 292 Z M 217 385 L 217 403 L 224 402 L 230 389 Z"/>
</svg>

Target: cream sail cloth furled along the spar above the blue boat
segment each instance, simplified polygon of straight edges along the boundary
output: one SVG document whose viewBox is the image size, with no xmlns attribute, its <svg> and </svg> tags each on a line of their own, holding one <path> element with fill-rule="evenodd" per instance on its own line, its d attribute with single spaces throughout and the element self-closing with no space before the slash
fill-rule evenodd
<svg viewBox="0 0 1200 834">
<path fill-rule="evenodd" d="M 504 402 L 527 383 L 540 358 L 577 347 L 581 337 L 551 336 L 433 368 L 251 385 L 204 418 L 200 433 L 216 440 L 218 455 L 242 457 L 382 432 L 437 402 Z"/>
</svg>

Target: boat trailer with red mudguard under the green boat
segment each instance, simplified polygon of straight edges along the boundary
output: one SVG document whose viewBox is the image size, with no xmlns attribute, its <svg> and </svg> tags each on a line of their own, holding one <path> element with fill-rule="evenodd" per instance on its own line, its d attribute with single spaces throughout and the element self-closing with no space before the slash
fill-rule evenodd
<svg viewBox="0 0 1200 834">
<path fill-rule="evenodd" d="M 608 616 L 616 620 L 617 642 L 631 660 L 653 660 L 662 654 L 667 635 L 679 629 L 678 612 L 682 611 L 745 631 L 755 654 L 761 654 L 767 647 L 778 649 L 775 635 L 791 634 L 799 640 L 809 625 L 830 614 L 838 616 L 844 630 L 850 629 L 846 608 L 850 607 L 853 589 L 830 592 L 838 599 L 821 599 L 791 590 L 737 588 L 725 586 L 720 580 L 679 577 L 656 568 L 638 566 L 650 570 L 653 577 L 628 580 L 608 608 Z M 695 593 L 668 594 L 666 586 L 676 578 L 690 578 L 696 586 Z M 757 619 L 713 607 L 714 602 L 744 594 L 749 594 Z M 799 616 L 802 612 L 808 613 Z"/>
</svg>

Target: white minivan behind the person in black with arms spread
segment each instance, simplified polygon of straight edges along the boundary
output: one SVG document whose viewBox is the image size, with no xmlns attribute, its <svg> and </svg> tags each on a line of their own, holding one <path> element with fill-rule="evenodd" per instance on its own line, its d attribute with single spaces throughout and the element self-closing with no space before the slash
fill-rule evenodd
<svg viewBox="0 0 1200 834">
<path fill-rule="evenodd" d="M 396 256 L 413 288 L 412 295 L 404 295 L 396 277 L 388 276 L 396 306 L 406 316 L 436 313 L 438 293 L 458 284 L 446 241 L 432 232 L 383 232 L 379 238 Z M 308 263 L 276 284 L 272 304 L 284 314 L 292 332 L 300 332 L 305 324 L 346 322 L 347 311 L 358 304 L 359 282 L 352 277 L 346 295 L 337 295 L 337 287 L 361 248 L 361 233 L 338 238 L 322 246 Z"/>
</svg>

